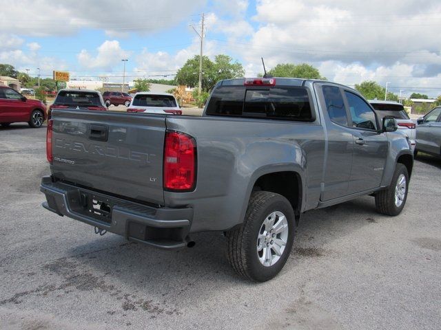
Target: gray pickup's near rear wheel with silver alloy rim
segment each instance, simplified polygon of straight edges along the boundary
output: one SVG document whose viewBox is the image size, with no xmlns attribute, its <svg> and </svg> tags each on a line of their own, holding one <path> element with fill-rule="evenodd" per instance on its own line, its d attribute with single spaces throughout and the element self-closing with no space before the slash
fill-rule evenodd
<svg viewBox="0 0 441 330">
<path fill-rule="evenodd" d="M 240 276 L 264 282 L 287 262 L 294 242 L 291 203 L 274 192 L 254 192 L 243 224 L 227 232 L 228 261 Z"/>
</svg>

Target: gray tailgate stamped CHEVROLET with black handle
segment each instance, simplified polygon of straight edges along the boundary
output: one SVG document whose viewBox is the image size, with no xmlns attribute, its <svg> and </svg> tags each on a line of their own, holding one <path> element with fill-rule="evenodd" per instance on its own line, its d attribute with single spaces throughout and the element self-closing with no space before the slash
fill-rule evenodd
<svg viewBox="0 0 441 330">
<path fill-rule="evenodd" d="M 164 115 L 54 110 L 56 179 L 163 204 Z"/>
</svg>

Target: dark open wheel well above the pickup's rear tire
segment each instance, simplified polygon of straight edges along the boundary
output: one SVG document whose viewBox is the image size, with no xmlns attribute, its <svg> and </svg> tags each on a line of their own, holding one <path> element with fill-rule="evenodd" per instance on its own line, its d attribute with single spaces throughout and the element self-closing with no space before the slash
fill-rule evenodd
<svg viewBox="0 0 441 330">
<path fill-rule="evenodd" d="M 269 173 L 259 177 L 253 190 L 276 192 L 288 199 L 296 214 L 296 221 L 300 217 L 302 208 L 302 179 L 296 172 Z"/>
</svg>

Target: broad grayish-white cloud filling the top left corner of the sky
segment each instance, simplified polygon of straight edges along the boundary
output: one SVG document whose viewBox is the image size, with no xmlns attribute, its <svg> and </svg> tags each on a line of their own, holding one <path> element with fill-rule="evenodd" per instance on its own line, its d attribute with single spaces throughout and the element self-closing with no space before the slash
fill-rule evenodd
<svg viewBox="0 0 441 330">
<path fill-rule="evenodd" d="M 81 28 L 105 30 L 116 36 L 170 28 L 188 18 L 205 0 L 90 1 L 17 0 L 3 5 L 0 31 L 30 36 L 65 36 Z"/>
</svg>

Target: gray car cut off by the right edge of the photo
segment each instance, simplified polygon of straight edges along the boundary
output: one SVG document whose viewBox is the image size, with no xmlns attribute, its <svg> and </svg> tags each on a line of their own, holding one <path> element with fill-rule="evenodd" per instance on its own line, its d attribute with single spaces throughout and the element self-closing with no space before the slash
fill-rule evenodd
<svg viewBox="0 0 441 330">
<path fill-rule="evenodd" d="M 418 118 L 415 154 L 418 151 L 441 156 L 441 107 L 433 109 L 422 118 Z"/>
</svg>

